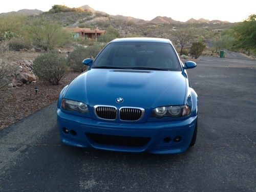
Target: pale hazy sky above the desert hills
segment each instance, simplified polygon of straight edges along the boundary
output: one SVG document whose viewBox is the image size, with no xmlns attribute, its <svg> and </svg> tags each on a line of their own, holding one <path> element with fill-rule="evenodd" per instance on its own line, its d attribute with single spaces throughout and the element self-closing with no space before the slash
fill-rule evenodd
<svg viewBox="0 0 256 192">
<path fill-rule="evenodd" d="M 172 17 L 185 22 L 191 17 L 209 20 L 227 20 L 228 22 L 242 22 L 251 14 L 256 14 L 256 1 L 228 1 L 228 0 L 12 0 L 3 1 L 0 13 L 17 11 L 20 9 L 39 9 L 48 11 L 53 5 L 80 7 L 89 5 L 91 8 L 111 15 L 133 16 L 151 20 L 156 16 Z"/>
</svg>

